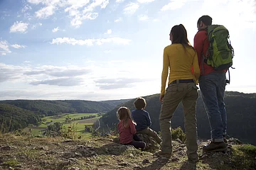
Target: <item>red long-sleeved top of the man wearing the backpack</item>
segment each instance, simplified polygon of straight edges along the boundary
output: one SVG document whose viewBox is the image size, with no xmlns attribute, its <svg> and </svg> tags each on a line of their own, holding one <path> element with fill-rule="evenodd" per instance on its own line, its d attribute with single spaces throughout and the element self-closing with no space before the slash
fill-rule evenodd
<svg viewBox="0 0 256 170">
<path fill-rule="evenodd" d="M 203 62 L 203 56 L 206 56 L 206 51 L 209 47 L 209 41 L 206 33 L 206 30 L 199 30 L 195 35 L 193 45 L 198 55 L 198 64 L 201 71 L 201 75 L 206 75 L 211 72 L 226 72 L 226 70 L 215 71 L 213 67 Z"/>
</svg>

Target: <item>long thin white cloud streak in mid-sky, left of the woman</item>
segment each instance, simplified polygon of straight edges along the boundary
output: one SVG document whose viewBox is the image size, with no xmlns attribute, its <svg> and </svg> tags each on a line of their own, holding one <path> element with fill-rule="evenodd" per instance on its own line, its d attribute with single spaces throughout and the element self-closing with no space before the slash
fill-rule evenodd
<svg viewBox="0 0 256 170">
<path fill-rule="evenodd" d="M 100 38 L 100 39 L 87 39 L 87 40 L 75 40 L 75 38 L 55 38 L 52 40 L 51 44 L 70 44 L 70 45 L 102 45 L 104 43 L 114 43 L 127 45 L 131 40 L 125 38 Z"/>
</svg>

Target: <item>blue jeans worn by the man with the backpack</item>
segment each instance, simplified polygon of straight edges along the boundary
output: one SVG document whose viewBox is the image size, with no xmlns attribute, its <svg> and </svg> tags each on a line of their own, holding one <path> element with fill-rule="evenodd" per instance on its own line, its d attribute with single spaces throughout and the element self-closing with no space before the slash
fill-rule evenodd
<svg viewBox="0 0 256 170">
<path fill-rule="evenodd" d="M 212 72 L 199 78 L 203 105 L 210 123 L 210 135 L 214 142 L 222 142 L 227 130 L 225 79 L 225 72 Z"/>
</svg>

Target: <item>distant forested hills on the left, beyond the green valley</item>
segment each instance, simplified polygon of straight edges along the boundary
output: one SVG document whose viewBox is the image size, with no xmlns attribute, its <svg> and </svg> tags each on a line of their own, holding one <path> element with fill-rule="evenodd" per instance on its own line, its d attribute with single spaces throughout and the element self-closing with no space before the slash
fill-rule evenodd
<svg viewBox="0 0 256 170">
<path fill-rule="evenodd" d="M 111 111 L 119 101 L 43 101 L 43 100 L 15 100 L 0 101 L 0 128 L 2 132 L 9 132 L 37 125 L 44 116 L 60 113 L 106 113 Z"/>
</svg>

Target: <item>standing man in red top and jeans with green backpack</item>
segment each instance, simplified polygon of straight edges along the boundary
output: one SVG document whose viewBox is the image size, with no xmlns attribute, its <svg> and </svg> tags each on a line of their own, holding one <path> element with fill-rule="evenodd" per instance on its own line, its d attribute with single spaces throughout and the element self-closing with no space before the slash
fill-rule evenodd
<svg viewBox="0 0 256 170">
<path fill-rule="evenodd" d="M 228 30 L 212 25 L 210 16 L 201 16 L 197 23 L 198 33 L 194 48 L 198 54 L 201 76 L 199 86 L 203 104 L 210 123 L 211 142 L 203 146 L 205 152 L 225 151 L 227 115 L 224 93 L 227 83 L 225 74 L 232 65 L 233 48 L 228 42 Z M 210 38 L 210 40 L 209 40 Z"/>
</svg>

